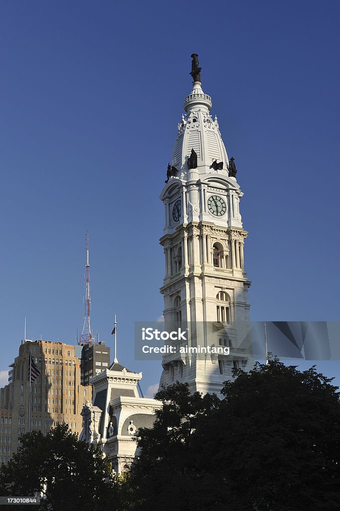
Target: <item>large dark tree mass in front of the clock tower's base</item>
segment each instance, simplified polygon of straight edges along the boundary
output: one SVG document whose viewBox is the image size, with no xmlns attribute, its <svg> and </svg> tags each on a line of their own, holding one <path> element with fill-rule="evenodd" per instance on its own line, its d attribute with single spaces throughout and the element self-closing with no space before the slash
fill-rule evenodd
<svg viewBox="0 0 340 511">
<path fill-rule="evenodd" d="M 125 489 L 134 511 L 338 511 L 340 403 L 314 367 L 238 370 L 223 400 L 164 388 Z"/>
</svg>

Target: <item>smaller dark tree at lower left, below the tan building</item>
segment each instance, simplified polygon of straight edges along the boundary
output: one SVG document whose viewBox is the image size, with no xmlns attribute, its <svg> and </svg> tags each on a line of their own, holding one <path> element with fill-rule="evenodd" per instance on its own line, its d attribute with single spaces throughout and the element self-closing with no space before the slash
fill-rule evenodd
<svg viewBox="0 0 340 511">
<path fill-rule="evenodd" d="M 0 469 L 1 495 L 44 492 L 41 509 L 53 511 L 114 509 L 111 466 L 100 448 L 79 442 L 67 425 L 51 429 L 46 436 L 32 431 L 22 435 L 20 443 L 18 453 Z"/>
</svg>

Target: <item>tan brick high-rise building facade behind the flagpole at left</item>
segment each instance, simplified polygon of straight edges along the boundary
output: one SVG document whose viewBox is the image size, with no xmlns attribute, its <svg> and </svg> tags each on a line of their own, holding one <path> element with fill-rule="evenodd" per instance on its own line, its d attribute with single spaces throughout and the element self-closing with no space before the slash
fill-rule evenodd
<svg viewBox="0 0 340 511">
<path fill-rule="evenodd" d="M 31 383 L 29 428 L 30 354 L 40 376 Z M 0 425 L 0 429 L 1 426 L 4 429 L 0 432 L 2 461 L 8 461 L 17 451 L 20 435 L 29 429 L 46 434 L 52 426 L 67 423 L 79 434 L 82 406 L 91 397 L 92 387 L 81 385 L 81 346 L 43 340 L 23 342 L 19 346 L 19 355 L 11 364 L 9 384 L 0 389 L 0 420 L 4 419 Z"/>
</svg>

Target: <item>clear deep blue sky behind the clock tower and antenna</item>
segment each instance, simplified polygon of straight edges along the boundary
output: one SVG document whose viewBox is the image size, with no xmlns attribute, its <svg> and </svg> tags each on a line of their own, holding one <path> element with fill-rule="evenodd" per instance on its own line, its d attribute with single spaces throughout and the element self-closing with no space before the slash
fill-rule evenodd
<svg viewBox="0 0 340 511">
<path fill-rule="evenodd" d="M 27 337 L 74 343 L 90 233 L 92 328 L 133 357 L 162 313 L 159 194 L 199 54 L 245 195 L 253 320 L 339 318 L 335 0 L 0 4 L 1 365 Z M 330 374 L 340 374 L 333 363 Z M 5 379 L 6 380 L 6 379 Z"/>
</svg>

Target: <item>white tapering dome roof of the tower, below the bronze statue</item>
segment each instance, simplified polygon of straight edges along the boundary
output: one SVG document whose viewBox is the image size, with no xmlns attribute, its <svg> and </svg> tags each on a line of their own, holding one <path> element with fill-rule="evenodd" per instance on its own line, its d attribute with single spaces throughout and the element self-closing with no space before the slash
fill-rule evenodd
<svg viewBox="0 0 340 511">
<path fill-rule="evenodd" d="M 200 82 L 193 82 L 192 91 L 184 99 L 185 114 L 178 124 L 178 134 L 172 156 L 172 165 L 179 172 L 177 175 L 186 179 L 188 175 L 187 159 L 191 149 L 197 154 L 197 172 L 200 175 L 218 173 L 228 176 L 228 156 L 224 146 L 218 122 L 212 119 L 210 96 L 204 94 Z M 214 160 L 223 162 L 223 169 L 214 170 Z"/>
</svg>

